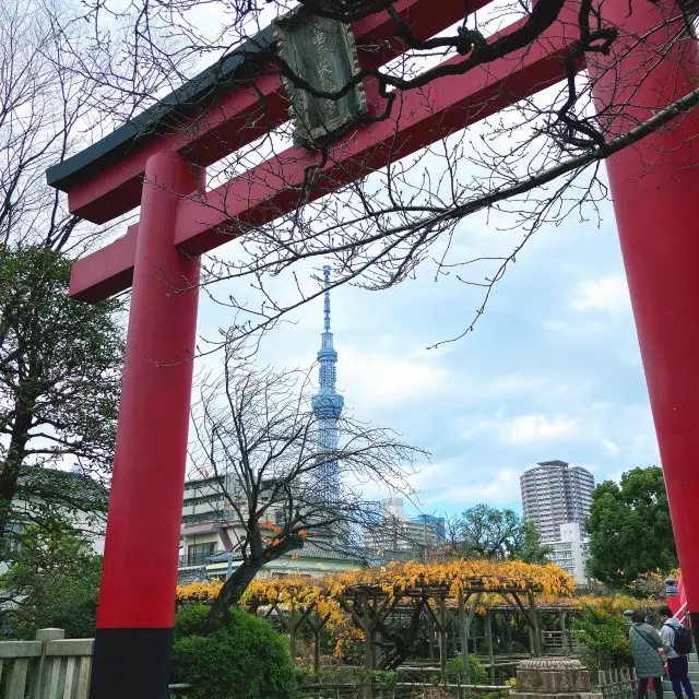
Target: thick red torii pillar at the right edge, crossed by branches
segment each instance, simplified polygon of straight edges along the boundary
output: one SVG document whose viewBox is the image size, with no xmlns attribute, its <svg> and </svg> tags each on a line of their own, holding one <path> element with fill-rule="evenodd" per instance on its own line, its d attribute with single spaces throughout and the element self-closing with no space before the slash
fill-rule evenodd
<svg viewBox="0 0 699 699">
<path fill-rule="evenodd" d="M 628 106 L 607 126 L 624 133 L 699 85 L 697 42 L 677 42 L 685 27 L 679 2 L 604 2 L 627 42 L 649 50 L 621 58 L 603 73 L 595 98 Z M 689 3 L 685 3 L 686 7 Z M 670 47 L 670 50 L 665 50 Z M 662 60 L 648 60 L 653 50 Z M 645 59 L 645 61 L 643 61 Z M 616 56 L 609 57 L 614 62 Z M 591 72 L 595 72 L 590 67 Z M 615 83 L 615 72 L 621 78 Z M 633 78 L 638 76 L 638 80 Z M 655 423 L 689 615 L 699 628 L 699 116 L 607 161 L 621 253 Z"/>
</svg>

